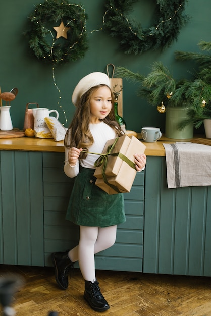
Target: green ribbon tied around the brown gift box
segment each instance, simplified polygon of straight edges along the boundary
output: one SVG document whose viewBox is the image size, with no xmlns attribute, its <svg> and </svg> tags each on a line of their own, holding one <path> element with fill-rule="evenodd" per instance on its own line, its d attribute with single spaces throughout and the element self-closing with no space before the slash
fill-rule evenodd
<svg viewBox="0 0 211 316">
<path fill-rule="evenodd" d="M 107 147 L 107 152 L 105 153 L 95 153 L 95 152 L 89 152 L 89 151 L 82 151 L 85 153 L 91 153 L 91 154 L 97 154 L 100 155 L 99 158 L 97 158 L 97 160 L 94 163 L 95 167 L 100 167 L 101 165 L 103 165 L 102 168 L 102 178 L 104 183 L 106 183 L 107 185 L 109 185 L 112 189 L 114 189 L 117 193 L 121 193 L 121 191 L 119 191 L 118 188 L 116 188 L 113 184 L 109 183 L 107 180 L 107 176 L 105 175 L 105 170 L 107 167 L 107 163 L 108 163 L 108 156 L 114 156 L 114 157 L 120 157 L 124 162 L 126 162 L 130 167 L 132 167 L 133 169 L 135 168 L 135 163 L 133 163 L 130 159 L 128 159 L 124 154 L 122 154 L 121 152 L 115 152 L 112 153 L 112 150 L 114 149 L 114 146 L 116 145 L 117 141 L 118 141 L 119 137 L 117 137 L 114 141 L 114 143 L 112 145 L 109 145 Z"/>
</svg>

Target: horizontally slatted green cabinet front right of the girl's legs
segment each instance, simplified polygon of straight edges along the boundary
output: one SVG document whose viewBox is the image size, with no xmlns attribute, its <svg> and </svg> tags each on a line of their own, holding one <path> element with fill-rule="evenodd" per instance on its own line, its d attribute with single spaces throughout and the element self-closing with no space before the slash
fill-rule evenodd
<svg viewBox="0 0 211 316">
<path fill-rule="evenodd" d="M 96 269 L 142 272 L 144 171 L 124 193 L 126 222 L 117 226 L 115 244 L 95 255 Z"/>
</svg>

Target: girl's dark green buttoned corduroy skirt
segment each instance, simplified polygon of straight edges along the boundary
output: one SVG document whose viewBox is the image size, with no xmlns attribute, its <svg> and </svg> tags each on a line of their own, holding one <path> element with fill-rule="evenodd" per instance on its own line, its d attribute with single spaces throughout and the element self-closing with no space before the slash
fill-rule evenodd
<svg viewBox="0 0 211 316">
<path fill-rule="evenodd" d="M 123 193 L 104 192 L 95 185 L 95 169 L 80 167 L 71 193 L 66 220 L 82 226 L 107 227 L 125 222 Z"/>
</svg>

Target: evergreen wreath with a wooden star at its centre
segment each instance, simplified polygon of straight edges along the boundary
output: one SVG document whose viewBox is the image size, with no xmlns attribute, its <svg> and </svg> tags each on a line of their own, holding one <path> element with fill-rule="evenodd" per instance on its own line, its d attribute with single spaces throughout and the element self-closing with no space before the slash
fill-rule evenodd
<svg viewBox="0 0 211 316">
<path fill-rule="evenodd" d="M 31 27 L 26 35 L 35 57 L 51 64 L 74 62 L 84 57 L 88 48 L 85 30 L 87 15 L 82 6 L 69 4 L 68 0 L 45 0 L 35 6 L 29 19 Z M 70 28 L 67 39 L 55 38 L 53 27 L 61 21 Z"/>
</svg>

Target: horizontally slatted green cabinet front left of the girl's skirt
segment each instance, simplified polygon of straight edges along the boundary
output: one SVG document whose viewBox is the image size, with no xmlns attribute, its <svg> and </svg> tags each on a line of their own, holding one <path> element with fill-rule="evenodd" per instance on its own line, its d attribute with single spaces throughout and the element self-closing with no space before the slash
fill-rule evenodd
<svg viewBox="0 0 211 316">
<path fill-rule="evenodd" d="M 44 256 L 51 266 L 51 253 L 66 251 L 77 245 L 78 226 L 65 220 L 74 179 L 64 171 L 64 153 L 43 153 Z"/>
</svg>

